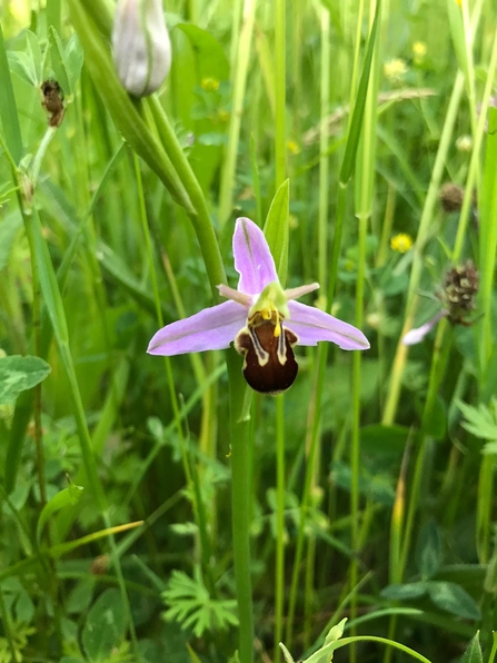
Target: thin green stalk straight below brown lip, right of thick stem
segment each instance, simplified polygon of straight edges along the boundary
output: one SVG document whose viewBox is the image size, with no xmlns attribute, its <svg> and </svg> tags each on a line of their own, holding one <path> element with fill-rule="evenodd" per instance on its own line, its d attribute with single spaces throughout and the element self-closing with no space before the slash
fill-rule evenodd
<svg viewBox="0 0 497 663">
<path fill-rule="evenodd" d="M 275 600 L 275 652 L 274 662 L 279 663 L 281 650 L 285 601 L 285 397 L 276 398 L 276 600 Z"/>
</svg>

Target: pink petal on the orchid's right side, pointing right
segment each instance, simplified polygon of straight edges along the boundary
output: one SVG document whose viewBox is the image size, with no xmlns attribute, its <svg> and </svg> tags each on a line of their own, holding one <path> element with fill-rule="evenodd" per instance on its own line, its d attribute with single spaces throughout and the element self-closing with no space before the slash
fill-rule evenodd
<svg viewBox="0 0 497 663">
<path fill-rule="evenodd" d="M 342 350 L 366 350 L 369 347 L 362 332 L 319 308 L 289 301 L 288 309 L 290 317 L 285 320 L 285 326 L 297 334 L 298 345 L 317 345 L 318 340 L 329 340 Z"/>
</svg>

